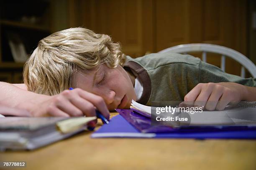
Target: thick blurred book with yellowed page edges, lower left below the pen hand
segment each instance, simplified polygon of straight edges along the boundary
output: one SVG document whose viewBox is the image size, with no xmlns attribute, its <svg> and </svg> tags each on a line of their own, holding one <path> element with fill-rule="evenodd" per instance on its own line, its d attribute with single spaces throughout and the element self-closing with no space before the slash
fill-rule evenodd
<svg viewBox="0 0 256 170">
<path fill-rule="evenodd" d="M 87 130 L 97 117 L 0 118 L 0 151 L 33 150 Z"/>
</svg>

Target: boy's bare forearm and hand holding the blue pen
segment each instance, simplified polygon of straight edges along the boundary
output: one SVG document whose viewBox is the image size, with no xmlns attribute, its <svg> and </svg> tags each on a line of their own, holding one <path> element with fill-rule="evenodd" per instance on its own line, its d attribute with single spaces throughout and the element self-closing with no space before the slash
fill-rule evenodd
<svg viewBox="0 0 256 170">
<path fill-rule="evenodd" d="M 59 95 L 47 96 L 23 90 L 15 85 L 0 82 L 0 105 L 27 110 L 31 116 L 95 116 L 95 107 L 109 118 L 108 107 L 102 97 L 74 89 Z"/>
</svg>

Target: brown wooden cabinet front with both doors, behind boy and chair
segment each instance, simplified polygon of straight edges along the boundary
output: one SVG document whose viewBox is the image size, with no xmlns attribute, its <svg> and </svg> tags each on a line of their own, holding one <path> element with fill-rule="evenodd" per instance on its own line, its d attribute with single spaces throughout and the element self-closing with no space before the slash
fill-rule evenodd
<svg viewBox="0 0 256 170">
<path fill-rule="evenodd" d="M 247 55 L 245 0 L 69 0 L 69 25 L 111 35 L 132 57 L 186 43 L 211 43 Z M 200 54 L 195 54 L 199 56 Z M 207 62 L 220 65 L 220 57 Z M 227 60 L 226 72 L 240 74 Z"/>
</svg>

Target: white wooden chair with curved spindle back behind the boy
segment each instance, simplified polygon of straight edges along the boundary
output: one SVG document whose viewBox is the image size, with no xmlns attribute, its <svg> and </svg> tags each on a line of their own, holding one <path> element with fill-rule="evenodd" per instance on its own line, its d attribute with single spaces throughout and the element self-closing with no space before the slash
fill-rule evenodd
<svg viewBox="0 0 256 170">
<path fill-rule="evenodd" d="M 206 62 L 207 60 L 207 52 L 217 53 L 221 55 L 221 63 L 220 68 L 225 71 L 225 59 L 226 57 L 230 57 L 233 60 L 239 62 L 241 67 L 241 77 L 245 77 L 245 68 L 251 73 L 253 77 L 256 77 L 256 66 L 255 64 L 249 60 L 245 55 L 240 52 L 233 50 L 228 47 L 223 47 L 220 45 L 213 44 L 183 44 L 177 45 L 174 47 L 169 47 L 164 50 L 159 51 L 159 53 L 164 52 L 173 52 L 173 53 L 182 53 L 187 54 L 187 52 L 202 52 L 202 61 Z"/>
</svg>

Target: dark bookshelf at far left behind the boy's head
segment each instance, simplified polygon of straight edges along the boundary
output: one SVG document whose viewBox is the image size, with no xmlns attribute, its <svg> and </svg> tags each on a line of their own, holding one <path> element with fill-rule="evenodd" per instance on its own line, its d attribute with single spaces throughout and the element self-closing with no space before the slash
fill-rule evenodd
<svg viewBox="0 0 256 170">
<path fill-rule="evenodd" d="M 22 83 L 23 65 L 51 33 L 50 0 L 3 0 L 0 6 L 0 81 Z"/>
</svg>

